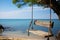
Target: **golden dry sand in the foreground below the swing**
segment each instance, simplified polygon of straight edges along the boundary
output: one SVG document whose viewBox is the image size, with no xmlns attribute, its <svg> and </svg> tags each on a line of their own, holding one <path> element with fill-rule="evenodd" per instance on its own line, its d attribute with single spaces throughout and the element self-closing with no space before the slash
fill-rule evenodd
<svg viewBox="0 0 60 40">
<path fill-rule="evenodd" d="M 0 40 L 43 40 L 42 38 L 28 37 L 28 36 L 0 36 Z"/>
</svg>

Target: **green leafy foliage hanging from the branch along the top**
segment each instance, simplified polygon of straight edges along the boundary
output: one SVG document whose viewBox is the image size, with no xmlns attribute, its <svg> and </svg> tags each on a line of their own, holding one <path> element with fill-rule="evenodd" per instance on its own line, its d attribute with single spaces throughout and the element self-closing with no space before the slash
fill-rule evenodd
<svg viewBox="0 0 60 40">
<path fill-rule="evenodd" d="M 13 4 L 17 5 L 18 8 L 26 4 L 28 4 L 29 6 L 33 4 L 33 5 L 47 7 L 44 1 L 39 2 L 38 0 L 12 0 L 12 2 Z"/>
</svg>

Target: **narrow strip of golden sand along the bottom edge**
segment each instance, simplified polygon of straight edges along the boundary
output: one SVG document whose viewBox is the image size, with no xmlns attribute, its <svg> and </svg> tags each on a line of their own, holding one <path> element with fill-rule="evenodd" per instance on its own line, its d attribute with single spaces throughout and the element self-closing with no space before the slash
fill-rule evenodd
<svg viewBox="0 0 60 40">
<path fill-rule="evenodd" d="M 47 40 L 47 38 L 31 38 L 31 37 L 6 37 L 0 36 L 0 40 Z M 50 40 L 55 40 L 53 37 L 50 37 Z"/>
</svg>

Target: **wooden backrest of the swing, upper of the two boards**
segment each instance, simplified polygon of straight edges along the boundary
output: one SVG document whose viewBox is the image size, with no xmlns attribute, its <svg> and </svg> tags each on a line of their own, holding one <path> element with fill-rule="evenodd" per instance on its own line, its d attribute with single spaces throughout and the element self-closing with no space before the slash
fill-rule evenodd
<svg viewBox="0 0 60 40">
<path fill-rule="evenodd" d="M 38 20 L 35 20 L 35 21 L 34 21 L 34 24 L 35 24 L 35 25 L 38 25 L 38 26 L 53 28 L 54 22 L 51 22 L 51 23 L 50 23 L 50 21 L 38 21 Z"/>
</svg>

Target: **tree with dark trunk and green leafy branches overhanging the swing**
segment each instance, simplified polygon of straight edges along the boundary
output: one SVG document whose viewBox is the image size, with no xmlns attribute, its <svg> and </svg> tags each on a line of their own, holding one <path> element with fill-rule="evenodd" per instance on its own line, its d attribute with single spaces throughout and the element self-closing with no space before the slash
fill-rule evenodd
<svg viewBox="0 0 60 40">
<path fill-rule="evenodd" d="M 26 4 L 31 6 L 32 3 L 33 5 L 44 6 L 45 8 L 50 7 L 58 15 L 58 18 L 60 19 L 60 0 L 12 0 L 12 2 L 13 4 L 17 5 L 18 8 Z"/>
</svg>

